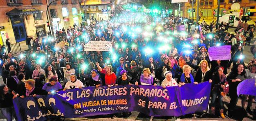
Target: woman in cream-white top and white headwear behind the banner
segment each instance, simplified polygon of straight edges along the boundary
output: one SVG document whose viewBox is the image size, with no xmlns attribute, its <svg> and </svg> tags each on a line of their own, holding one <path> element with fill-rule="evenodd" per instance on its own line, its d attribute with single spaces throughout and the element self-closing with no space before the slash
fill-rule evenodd
<svg viewBox="0 0 256 121">
<path fill-rule="evenodd" d="M 172 73 L 171 71 L 166 71 L 165 72 L 165 79 L 162 81 L 161 86 L 163 88 L 169 87 L 169 86 L 181 86 L 181 84 L 178 84 L 173 78 L 172 78 Z"/>
</svg>

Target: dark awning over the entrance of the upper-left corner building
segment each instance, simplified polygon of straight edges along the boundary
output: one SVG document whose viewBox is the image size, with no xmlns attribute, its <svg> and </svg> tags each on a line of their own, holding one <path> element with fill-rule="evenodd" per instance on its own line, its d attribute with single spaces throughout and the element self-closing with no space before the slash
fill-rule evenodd
<svg viewBox="0 0 256 121">
<path fill-rule="evenodd" d="M 12 15 L 26 15 L 26 14 L 37 14 L 39 13 L 36 9 L 17 9 L 14 8 L 11 11 L 7 12 L 6 15 L 12 16 Z"/>
</svg>

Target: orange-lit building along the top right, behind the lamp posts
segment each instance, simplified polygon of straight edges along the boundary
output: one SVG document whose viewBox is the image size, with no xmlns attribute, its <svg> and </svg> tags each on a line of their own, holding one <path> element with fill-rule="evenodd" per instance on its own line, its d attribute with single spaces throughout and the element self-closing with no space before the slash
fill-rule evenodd
<svg viewBox="0 0 256 121">
<path fill-rule="evenodd" d="M 231 5 L 235 2 L 238 2 L 241 7 L 249 7 L 250 9 L 256 9 L 256 1 L 255 0 L 220 0 L 220 8 L 229 10 L 231 9 Z M 179 3 L 174 3 L 174 11 L 173 14 L 178 16 L 178 5 Z M 183 17 L 192 17 L 192 0 L 188 0 L 188 2 L 180 3 L 180 15 Z M 197 0 L 194 0 L 194 12 L 193 18 L 197 17 Z M 218 8 L 218 0 L 199 0 L 199 16 L 207 18 L 213 17 L 214 10 Z M 191 12 L 188 12 L 190 9 Z M 217 11 L 216 11 L 217 14 Z M 251 16 L 256 16 L 251 15 Z"/>
</svg>

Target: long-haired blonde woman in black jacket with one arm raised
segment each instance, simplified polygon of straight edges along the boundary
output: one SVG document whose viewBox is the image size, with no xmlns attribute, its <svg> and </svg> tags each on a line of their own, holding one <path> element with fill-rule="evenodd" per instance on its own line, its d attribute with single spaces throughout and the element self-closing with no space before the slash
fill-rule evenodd
<svg viewBox="0 0 256 121">
<path fill-rule="evenodd" d="M 208 62 L 203 59 L 199 63 L 199 65 L 194 65 L 190 62 L 190 58 L 187 58 L 187 65 L 192 67 L 194 69 L 194 79 L 198 83 L 209 81 L 211 78 L 211 75 L 213 74 L 212 71 L 210 71 L 210 68 L 208 66 Z M 210 80 L 211 82 L 211 80 Z"/>
</svg>

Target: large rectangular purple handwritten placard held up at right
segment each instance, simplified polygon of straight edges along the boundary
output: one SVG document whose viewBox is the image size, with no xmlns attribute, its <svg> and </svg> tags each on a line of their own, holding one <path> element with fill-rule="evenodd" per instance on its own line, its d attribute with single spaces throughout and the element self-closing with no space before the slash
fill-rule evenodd
<svg viewBox="0 0 256 121">
<path fill-rule="evenodd" d="M 231 46 L 210 47 L 209 50 L 208 50 L 210 61 L 231 59 L 230 49 L 231 49 Z"/>
</svg>

